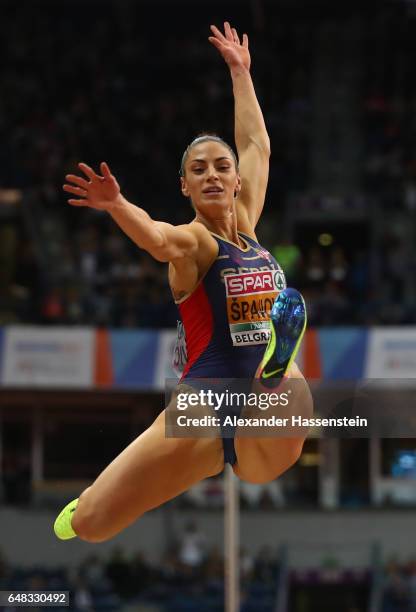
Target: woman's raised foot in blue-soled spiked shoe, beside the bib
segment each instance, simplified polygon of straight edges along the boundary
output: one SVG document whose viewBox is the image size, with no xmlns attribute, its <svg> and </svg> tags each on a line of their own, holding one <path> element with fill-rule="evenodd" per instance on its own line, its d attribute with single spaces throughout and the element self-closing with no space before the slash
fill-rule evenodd
<svg viewBox="0 0 416 612">
<path fill-rule="evenodd" d="M 270 313 L 270 340 L 257 368 L 256 378 L 276 387 L 292 365 L 306 328 L 305 301 L 296 289 L 284 289 Z"/>
</svg>

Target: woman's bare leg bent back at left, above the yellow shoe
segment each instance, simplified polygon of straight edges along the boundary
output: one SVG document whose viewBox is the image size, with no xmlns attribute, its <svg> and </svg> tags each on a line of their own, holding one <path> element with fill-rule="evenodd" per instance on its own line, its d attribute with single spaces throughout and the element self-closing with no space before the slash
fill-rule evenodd
<svg viewBox="0 0 416 612">
<path fill-rule="evenodd" d="M 166 438 L 162 412 L 82 493 L 72 527 L 83 540 L 108 540 L 223 469 L 220 438 Z"/>
</svg>

